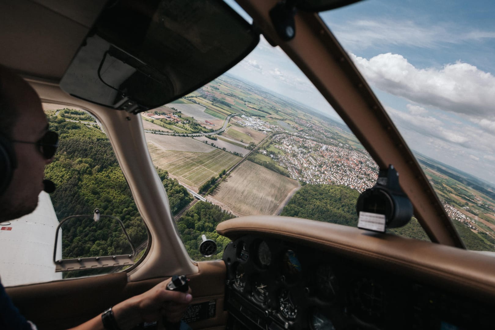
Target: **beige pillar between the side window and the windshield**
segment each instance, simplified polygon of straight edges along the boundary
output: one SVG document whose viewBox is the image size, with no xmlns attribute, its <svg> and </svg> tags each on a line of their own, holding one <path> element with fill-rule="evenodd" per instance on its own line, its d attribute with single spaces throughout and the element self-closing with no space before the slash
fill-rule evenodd
<svg viewBox="0 0 495 330">
<path fill-rule="evenodd" d="M 103 125 L 136 206 L 151 234 L 148 237 L 151 244 L 147 255 L 141 264 L 127 273 L 129 281 L 141 281 L 164 274 L 196 273 L 197 267 L 189 258 L 177 233 L 165 189 L 149 156 L 140 116 L 75 98 L 62 92 L 57 84 L 35 79 L 27 81 L 42 101 L 86 109 Z"/>
</svg>

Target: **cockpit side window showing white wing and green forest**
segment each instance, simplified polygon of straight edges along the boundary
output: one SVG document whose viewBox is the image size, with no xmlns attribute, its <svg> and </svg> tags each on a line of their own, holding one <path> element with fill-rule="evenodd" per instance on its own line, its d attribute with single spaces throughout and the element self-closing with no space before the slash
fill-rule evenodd
<svg viewBox="0 0 495 330">
<path fill-rule="evenodd" d="M 22 239 L 10 243 L 17 251 L 2 272 L 6 286 L 40 283 L 62 278 L 106 274 L 127 267 L 97 268 L 55 273 L 53 242 L 58 231 L 55 259 L 77 259 L 132 255 L 133 250 L 120 219 L 135 247 L 130 257 L 137 262 L 147 248 L 148 233 L 122 174 L 112 146 L 99 122 L 83 109 L 43 104 L 49 130 L 59 136 L 53 161 L 45 177 L 55 184 L 51 194 L 42 192 L 38 208 L 22 220 L 2 224 L 4 236 L 22 232 Z M 99 221 L 95 221 L 95 209 Z M 111 216 L 111 217 L 109 217 Z M 3 239 L 3 237 L 2 237 Z M 22 255 L 22 262 L 15 255 Z"/>
</svg>

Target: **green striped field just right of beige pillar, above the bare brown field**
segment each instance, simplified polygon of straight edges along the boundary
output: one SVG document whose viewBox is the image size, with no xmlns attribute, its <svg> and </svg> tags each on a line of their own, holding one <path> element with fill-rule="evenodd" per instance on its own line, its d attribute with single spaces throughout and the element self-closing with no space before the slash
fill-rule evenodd
<svg viewBox="0 0 495 330">
<path fill-rule="evenodd" d="M 213 148 L 206 143 L 192 141 Z M 206 180 L 216 177 L 222 170 L 229 170 L 241 157 L 213 148 L 210 152 L 164 150 L 148 142 L 153 164 L 177 178 L 179 182 L 198 188 Z"/>
</svg>

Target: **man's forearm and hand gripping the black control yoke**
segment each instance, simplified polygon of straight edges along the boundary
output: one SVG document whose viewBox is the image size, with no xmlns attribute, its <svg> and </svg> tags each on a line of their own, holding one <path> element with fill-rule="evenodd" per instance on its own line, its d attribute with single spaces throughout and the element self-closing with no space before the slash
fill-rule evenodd
<svg viewBox="0 0 495 330">
<path fill-rule="evenodd" d="M 120 330 L 130 330 L 143 322 L 158 321 L 162 316 L 169 322 L 179 322 L 182 314 L 193 299 L 189 292 L 167 290 L 163 281 L 143 294 L 124 300 L 112 307 L 113 315 Z M 101 315 L 71 330 L 105 330 Z"/>
</svg>

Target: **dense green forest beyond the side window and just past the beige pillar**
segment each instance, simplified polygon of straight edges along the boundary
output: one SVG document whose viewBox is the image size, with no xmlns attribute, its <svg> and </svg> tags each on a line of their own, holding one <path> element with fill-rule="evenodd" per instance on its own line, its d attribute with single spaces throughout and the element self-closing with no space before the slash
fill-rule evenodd
<svg viewBox="0 0 495 330">
<path fill-rule="evenodd" d="M 77 258 L 130 253 L 131 248 L 115 220 L 93 220 L 94 209 L 124 223 L 134 246 L 148 234 L 127 182 L 106 135 L 97 125 L 49 117 L 50 130 L 60 136 L 60 146 L 45 175 L 56 185 L 50 195 L 59 220 L 72 215 L 62 226 L 62 257 Z M 191 200 L 189 192 L 166 171 L 158 175 L 167 191 L 171 210 L 180 211 Z"/>
</svg>

